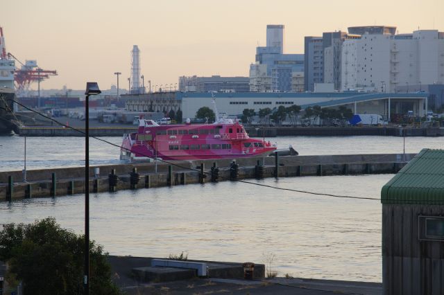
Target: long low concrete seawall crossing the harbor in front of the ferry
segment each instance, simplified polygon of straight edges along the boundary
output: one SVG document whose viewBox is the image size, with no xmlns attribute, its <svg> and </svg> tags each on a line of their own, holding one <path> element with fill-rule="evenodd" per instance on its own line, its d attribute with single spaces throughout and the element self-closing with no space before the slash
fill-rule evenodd
<svg viewBox="0 0 444 295">
<path fill-rule="evenodd" d="M 361 175 L 396 173 L 404 167 L 415 154 L 354 154 L 330 156 L 280 157 L 278 177 L 303 177 L 327 175 Z M 262 165 L 262 157 L 237 159 L 238 179 L 257 177 L 256 165 Z M 119 165 L 98 166 L 100 174 L 94 177 L 94 168 L 89 170 L 89 190 L 93 193 L 110 191 L 109 175 L 115 170 L 118 181 L 115 190 L 131 188 L 130 172 L 137 168 L 140 181 L 136 188 L 155 188 L 210 182 L 210 168 L 216 163 L 220 169 L 219 181 L 230 179 L 232 159 L 205 161 L 175 161 L 178 166 L 160 163 L 155 172 L 155 163 L 123 163 Z M 198 168 L 203 163 L 206 178 L 201 178 Z M 263 177 L 276 177 L 274 157 L 265 158 Z M 189 170 L 190 168 L 194 170 Z M 169 170 L 171 169 L 171 173 Z M 55 168 L 29 170 L 26 183 L 22 182 L 21 171 L 0 172 L 0 200 L 26 199 L 29 197 L 56 197 L 85 193 L 84 171 L 77 168 Z M 12 189 L 11 189 L 12 188 Z"/>
</svg>

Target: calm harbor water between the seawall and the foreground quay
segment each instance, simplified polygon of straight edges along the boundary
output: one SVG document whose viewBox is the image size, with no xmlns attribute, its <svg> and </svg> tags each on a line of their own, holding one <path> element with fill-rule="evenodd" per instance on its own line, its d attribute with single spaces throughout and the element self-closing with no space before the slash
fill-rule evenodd
<svg viewBox="0 0 444 295">
<path fill-rule="evenodd" d="M 262 184 L 378 198 L 393 175 L 265 179 Z M 254 180 L 252 182 L 255 182 Z M 379 200 L 250 184 L 189 185 L 91 198 L 91 238 L 113 255 L 271 263 L 280 276 L 381 281 Z M 54 216 L 83 233 L 84 196 L 0 202 L 0 223 Z"/>
</svg>

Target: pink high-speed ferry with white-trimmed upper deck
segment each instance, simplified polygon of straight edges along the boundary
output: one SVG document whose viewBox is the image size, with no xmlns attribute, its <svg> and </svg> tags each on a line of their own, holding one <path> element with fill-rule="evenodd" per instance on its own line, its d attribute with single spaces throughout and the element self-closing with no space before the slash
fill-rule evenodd
<svg viewBox="0 0 444 295">
<path fill-rule="evenodd" d="M 216 118 L 216 123 L 193 125 L 159 125 L 153 120 L 139 119 L 137 132 L 123 135 L 121 159 L 242 158 L 275 150 L 270 142 L 250 138 L 235 119 Z"/>
</svg>

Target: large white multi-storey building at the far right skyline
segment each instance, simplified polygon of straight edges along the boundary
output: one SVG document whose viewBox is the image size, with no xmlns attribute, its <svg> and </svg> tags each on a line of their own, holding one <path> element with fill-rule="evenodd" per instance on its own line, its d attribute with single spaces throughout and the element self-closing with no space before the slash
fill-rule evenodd
<svg viewBox="0 0 444 295">
<path fill-rule="evenodd" d="M 444 84 L 444 33 L 364 33 L 346 39 L 341 56 L 341 90 L 397 92 Z M 419 85 L 419 87 L 418 87 Z"/>
</svg>

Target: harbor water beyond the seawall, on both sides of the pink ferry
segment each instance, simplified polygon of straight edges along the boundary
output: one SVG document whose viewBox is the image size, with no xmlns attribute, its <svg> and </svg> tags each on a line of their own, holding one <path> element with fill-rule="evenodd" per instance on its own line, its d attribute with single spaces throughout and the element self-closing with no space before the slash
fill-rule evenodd
<svg viewBox="0 0 444 295">
<path fill-rule="evenodd" d="M 116 145 L 120 137 L 103 137 Z M 280 148 L 289 145 L 300 155 L 313 154 L 382 154 L 402 153 L 402 137 L 393 136 L 282 136 L 266 138 Z M 406 152 L 416 153 L 423 147 L 443 148 L 442 137 L 407 137 Z M 90 165 L 121 163 L 119 147 L 96 139 L 89 141 Z M 83 166 L 85 141 L 81 137 L 26 138 L 26 166 L 29 169 Z M 0 171 L 24 168 L 24 137 L 0 136 Z"/>
</svg>

